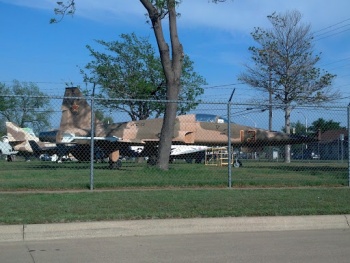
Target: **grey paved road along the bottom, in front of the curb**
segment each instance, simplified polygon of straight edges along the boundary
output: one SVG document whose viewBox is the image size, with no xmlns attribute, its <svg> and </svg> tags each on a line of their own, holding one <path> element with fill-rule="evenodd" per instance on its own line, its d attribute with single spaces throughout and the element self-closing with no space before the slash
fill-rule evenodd
<svg viewBox="0 0 350 263">
<path fill-rule="evenodd" d="M 345 263 L 349 248 L 349 229 L 164 234 L 0 242 L 0 262 Z"/>
</svg>

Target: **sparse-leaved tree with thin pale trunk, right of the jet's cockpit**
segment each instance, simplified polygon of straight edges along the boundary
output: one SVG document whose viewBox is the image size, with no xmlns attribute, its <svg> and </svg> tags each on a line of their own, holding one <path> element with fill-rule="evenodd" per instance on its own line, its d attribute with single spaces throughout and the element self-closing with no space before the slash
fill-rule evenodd
<svg viewBox="0 0 350 263">
<path fill-rule="evenodd" d="M 335 75 L 316 67 L 320 60 L 314 55 L 310 25 L 301 23 L 298 11 L 268 16 L 271 29 L 255 28 L 253 39 L 258 46 L 250 47 L 254 66 L 239 79 L 267 92 L 269 104 L 282 105 L 286 133 L 290 133 L 290 115 L 296 105 L 325 103 L 339 97 L 331 90 Z M 290 162 L 290 145 L 285 147 L 285 161 Z"/>
</svg>

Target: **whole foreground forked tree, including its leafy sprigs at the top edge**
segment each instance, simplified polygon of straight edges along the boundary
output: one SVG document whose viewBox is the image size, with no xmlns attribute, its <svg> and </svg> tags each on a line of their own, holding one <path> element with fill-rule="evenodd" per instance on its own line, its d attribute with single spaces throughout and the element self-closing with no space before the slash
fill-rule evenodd
<svg viewBox="0 0 350 263">
<path fill-rule="evenodd" d="M 181 89 L 180 78 L 184 60 L 183 47 L 177 30 L 178 13 L 176 12 L 176 8 L 181 3 L 181 0 L 140 0 L 140 2 L 147 11 L 147 16 L 157 41 L 166 80 L 166 99 L 177 101 Z M 225 0 L 212 0 L 212 2 L 225 2 Z M 51 23 L 60 21 L 66 14 L 73 15 L 75 12 L 75 0 L 67 0 L 66 3 L 60 1 L 57 4 L 58 7 L 54 11 L 56 15 L 60 16 L 60 19 L 51 19 Z M 163 31 L 162 21 L 165 18 L 168 18 L 169 23 L 170 45 L 168 45 Z M 177 106 L 177 103 L 167 103 L 165 106 L 157 161 L 158 167 L 162 170 L 169 169 L 169 157 Z"/>
</svg>

